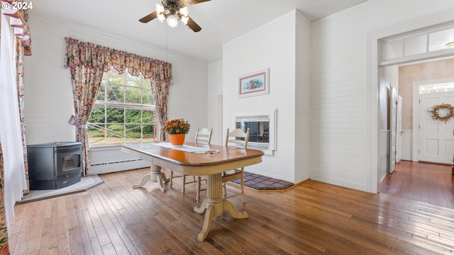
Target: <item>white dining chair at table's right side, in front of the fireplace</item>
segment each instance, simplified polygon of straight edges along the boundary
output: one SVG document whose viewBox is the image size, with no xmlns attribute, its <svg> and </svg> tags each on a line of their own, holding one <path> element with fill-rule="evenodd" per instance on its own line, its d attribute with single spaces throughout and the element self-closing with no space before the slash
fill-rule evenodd
<svg viewBox="0 0 454 255">
<path fill-rule="evenodd" d="M 230 132 L 227 128 L 227 136 L 226 136 L 226 147 L 240 147 L 242 149 L 246 149 L 248 147 L 248 140 L 249 140 L 249 132 L 250 129 L 246 132 L 241 130 L 240 128 L 236 128 L 232 132 Z M 228 181 L 238 180 L 240 179 L 240 186 L 241 191 L 238 193 L 233 193 L 227 196 L 227 188 L 226 183 Z M 244 198 L 244 167 L 240 169 L 232 169 L 229 171 L 225 171 L 222 173 L 222 186 L 224 190 L 223 199 L 231 198 L 233 196 L 241 195 L 243 198 L 243 203 L 246 203 Z"/>
</svg>

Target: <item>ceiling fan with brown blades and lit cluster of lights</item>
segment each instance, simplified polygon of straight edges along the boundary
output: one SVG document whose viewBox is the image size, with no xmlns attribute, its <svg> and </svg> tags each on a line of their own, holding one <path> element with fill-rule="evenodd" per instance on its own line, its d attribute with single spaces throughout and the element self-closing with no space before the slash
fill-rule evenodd
<svg viewBox="0 0 454 255">
<path fill-rule="evenodd" d="M 210 0 L 162 0 L 161 4 L 155 4 L 155 11 L 148 14 L 147 16 L 140 18 L 140 22 L 148 23 L 157 18 L 159 21 L 164 22 L 167 20 L 167 24 L 172 28 L 178 25 L 178 20 L 181 20 L 184 25 L 189 26 L 194 32 L 199 32 L 201 27 L 195 23 L 195 21 L 189 17 L 189 9 L 187 6 L 200 4 L 204 1 Z"/>
</svg>

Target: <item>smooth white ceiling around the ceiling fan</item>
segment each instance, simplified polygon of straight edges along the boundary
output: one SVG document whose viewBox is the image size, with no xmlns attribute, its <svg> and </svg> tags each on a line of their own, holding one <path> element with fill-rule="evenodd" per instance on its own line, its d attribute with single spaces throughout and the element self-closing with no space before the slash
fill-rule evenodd
<svg viewBox="0 0 454 255">
<path fill-rule="evenodd" d="M 198 33 L 181 22 L 177 28 L 157 19 L 140 23 L 138 19 L 153 12 L 160 0 L 39 0 L 29 14 L 211 63 L 222 58 L 224 43 L 294 9 L 316 21 L 364 1 L 211 0 L 189 6 L 189 16 L 202 28 Z"/>
</svg>

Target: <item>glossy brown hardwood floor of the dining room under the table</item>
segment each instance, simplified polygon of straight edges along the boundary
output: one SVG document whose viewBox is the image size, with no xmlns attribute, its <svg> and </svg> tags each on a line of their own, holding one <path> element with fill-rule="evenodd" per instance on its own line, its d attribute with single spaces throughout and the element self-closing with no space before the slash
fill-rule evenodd
<svg viewBox="0 0 454 255">
<path fill-rule="evenodd" d="M 216 217 L 197 242 L 204 215 L 192 210 L 195 185 L 185 195 L 179 179 L 166 193 L 150 182 L 132 188 L 148 171 L 105 174 L 90 191 L 16 205 L 11 254 L 454 253 L 454 208 L 317 181 L 246 189 L 245 204 L 231 201 L 249 218 Z"/>
</svg>

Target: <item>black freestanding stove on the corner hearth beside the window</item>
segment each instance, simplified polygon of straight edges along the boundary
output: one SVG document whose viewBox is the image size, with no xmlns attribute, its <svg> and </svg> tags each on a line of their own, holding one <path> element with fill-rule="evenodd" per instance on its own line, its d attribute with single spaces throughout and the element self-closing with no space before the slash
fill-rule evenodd
<svg viewBox="0 0 454 255">
<path fill-rule="evenodd" d="M 31 190 L 64 188 L 80 181 L 81 142 L 50 142 L 27 145 Z"/>
</svg>

